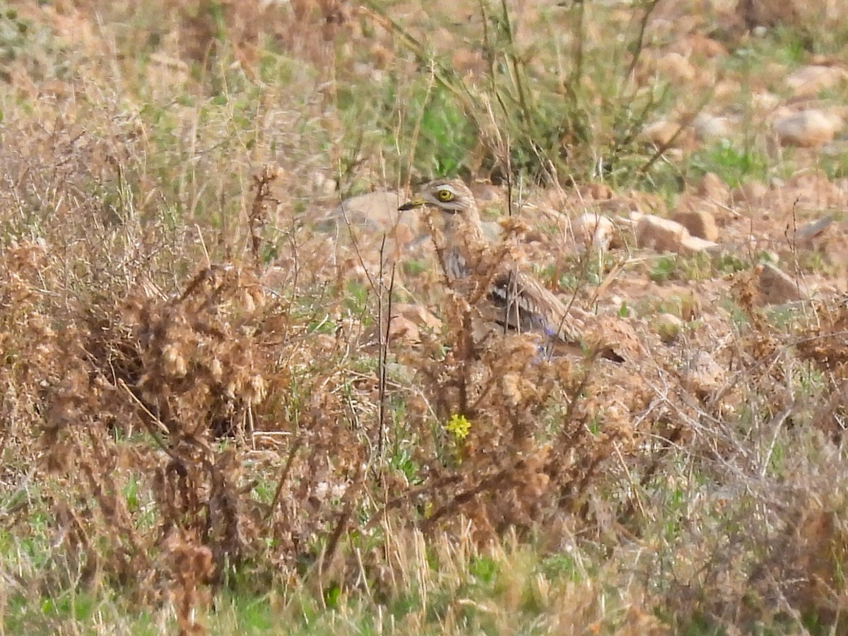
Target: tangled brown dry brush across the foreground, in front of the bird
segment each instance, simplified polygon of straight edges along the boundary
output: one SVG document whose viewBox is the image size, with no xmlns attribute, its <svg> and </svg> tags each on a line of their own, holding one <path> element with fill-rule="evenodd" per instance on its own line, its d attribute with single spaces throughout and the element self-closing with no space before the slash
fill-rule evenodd
<svg viewBox="0 0 848 636">
<path fill-rule="evenodd" d="M 560 604 L 551 624 L 603 622 L 605 583 L 656 616 L 839 622 L 845 304 L 775 326 L 743 271 L 735 323 L 672 344 L 639 323 L 622 364 L 547 356 L 477 332 L 432 255 L 323 258 L 332 237 L 293 216 L 308 165 L 245 170 L 243 214 L 218 226 L 175 220 L 150 129 L 77 108 L 3 125 L 0 521 L 46 545 L 3 572 L 14 594 L 120 590 L 188 633 L 222 589 L 378 605 L 439 560 L 532 545 L 582 564 L 586 594 L 538 601 Z M 392 324 L 410 298 L 441 319 L 414 345 Z"/>
</svg>

